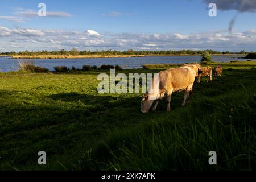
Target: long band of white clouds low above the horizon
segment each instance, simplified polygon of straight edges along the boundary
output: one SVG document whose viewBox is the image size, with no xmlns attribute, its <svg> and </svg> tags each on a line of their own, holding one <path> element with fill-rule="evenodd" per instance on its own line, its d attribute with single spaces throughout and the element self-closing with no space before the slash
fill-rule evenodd
<svg viewBox="0 0 256 182">
<path fill-rule="evenodd" d="M 94 30 L 64 31 L 0 27 L 0 51 L 80 50 L 162 50 L 215 49 L 217 51 L 255 51 L 256 30 L 244 32 L 206 31 L 181 34 L 104 33 Z"/>
</svg>

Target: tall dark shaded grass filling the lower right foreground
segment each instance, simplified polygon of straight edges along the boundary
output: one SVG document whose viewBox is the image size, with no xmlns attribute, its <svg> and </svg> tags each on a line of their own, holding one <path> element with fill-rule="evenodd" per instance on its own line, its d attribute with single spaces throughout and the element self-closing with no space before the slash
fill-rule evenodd
<svg viewBox="0 0 256 182">
<path fill-rule="evenodd" d="M 94 169 L 256 169 L 255 90 L 238 87 L 216 98 L 194 98 L 171 115 L 116 130 L 90 158 L 97 159 Z M 217 165 L 209 165 L 209 151 L 217 152 Z"/>
</svg>

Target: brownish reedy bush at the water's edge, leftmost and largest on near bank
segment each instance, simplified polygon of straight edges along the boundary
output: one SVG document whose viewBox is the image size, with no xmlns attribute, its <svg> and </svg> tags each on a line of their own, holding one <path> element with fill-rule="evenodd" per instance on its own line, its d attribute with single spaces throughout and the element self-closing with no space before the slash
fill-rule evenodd
<svg viewBox="0 0 256 182">
<path fill-rule="evenodd" d="M 33 73 L 46 73 L 49 71 L 47 68 L 36 66 L 34 61 L 19 61 L 19 70 Z"/>
</svg>

